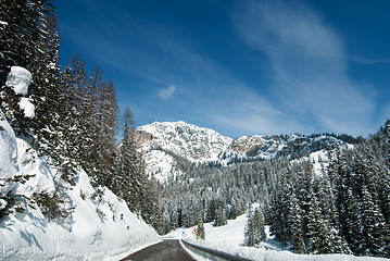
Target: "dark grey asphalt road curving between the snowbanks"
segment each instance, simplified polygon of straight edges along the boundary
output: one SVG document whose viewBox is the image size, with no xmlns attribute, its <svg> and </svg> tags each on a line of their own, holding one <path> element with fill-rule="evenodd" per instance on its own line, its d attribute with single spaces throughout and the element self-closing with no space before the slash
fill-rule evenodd
<svg viewBox="0 0 390 261">
<path fill-rule="evenodd" d="M 179 240 L 163 240 L 156 245 L 143 248 L 122 261 L 194 261 L 181 247 Z"/>
</svg>

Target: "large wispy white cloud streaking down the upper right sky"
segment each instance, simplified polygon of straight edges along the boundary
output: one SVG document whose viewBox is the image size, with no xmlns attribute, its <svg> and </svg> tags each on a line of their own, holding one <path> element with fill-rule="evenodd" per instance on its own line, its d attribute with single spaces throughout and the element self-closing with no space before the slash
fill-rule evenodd
<svg viewBox="0 0 390 261">
<path fill-rule="evenodd" d="M 237 27 L 244 42 L 268 57 L 277 100 L 328 130 L 367 134 L 374 104 L 349 79 L 338 35 L 300 1 L 247 3 Z"/>
</svg>

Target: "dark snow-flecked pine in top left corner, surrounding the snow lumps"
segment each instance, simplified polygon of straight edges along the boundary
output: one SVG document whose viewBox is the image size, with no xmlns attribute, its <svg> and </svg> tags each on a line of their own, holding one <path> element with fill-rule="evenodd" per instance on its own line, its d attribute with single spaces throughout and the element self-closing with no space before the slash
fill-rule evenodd
<svg viewBox="0 0 390 261">
<path fill-rule="evenodd" d="M 41 79 L 40 69 L 48 66 L 47 60 L 41 61 L 40 44 L 47 38 L 46 16 L 52 11 L 50 1 L 46 0 L 4 0 L 0 2 L 0 83 L 5 78 L 11 66 L 17 65 L 27 69 L 34 80 Z M 16 130 L 16 134 L 29 135 L 32 121 L 24 116 L 18 109 L 20 96 L 11 89 L 0 88 L 0 103 L 4 114 Z M 29 94 L 35 91 L 35 83 Z"/>
</svg>

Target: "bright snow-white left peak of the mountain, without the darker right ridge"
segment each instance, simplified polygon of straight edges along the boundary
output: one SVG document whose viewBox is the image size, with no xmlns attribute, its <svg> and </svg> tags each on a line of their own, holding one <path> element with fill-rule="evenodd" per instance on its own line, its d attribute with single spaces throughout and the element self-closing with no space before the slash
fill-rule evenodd
<svg viewBox="0 0 390 261">
<path fill-rule="evenodd" d="M 147 172 L 160 182 L 168 176 L 176 179 L 175 156 L 194 162 L 218 161 L 232 139 L 212 129 L 185 122 L 155 122 L 135 132 L 136 142 L 143 154 Z"/>
</svg>

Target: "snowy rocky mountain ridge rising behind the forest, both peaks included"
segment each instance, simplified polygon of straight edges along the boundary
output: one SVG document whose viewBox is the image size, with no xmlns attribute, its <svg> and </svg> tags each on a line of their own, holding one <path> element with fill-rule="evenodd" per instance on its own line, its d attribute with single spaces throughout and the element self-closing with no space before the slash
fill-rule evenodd
<svg viewBox="0 0 390 261">
<path fill-rule="evenodd" d="M 176 158 L 197 163 L 229 164 L 256 159 L 288 157 L 297 159 L 312 152 L 345 144 L 336 135 L 242 136 L 237 139 L 185 122 L 154 122 L 134 132 L 147 172 L 159 181 L 180 172 Z"/>
</svg>

